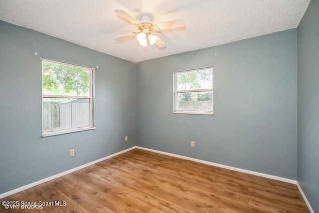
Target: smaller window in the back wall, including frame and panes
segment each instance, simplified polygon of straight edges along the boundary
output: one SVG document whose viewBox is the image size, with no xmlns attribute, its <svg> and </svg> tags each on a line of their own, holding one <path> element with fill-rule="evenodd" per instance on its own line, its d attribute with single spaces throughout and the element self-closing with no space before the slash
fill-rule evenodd
<svg viewBox="0 0 319 213">
<path fill-rule="evenodd" d="M 213 114 L 213 67 L 174 72 L 174 113 Z"/>
</svg>

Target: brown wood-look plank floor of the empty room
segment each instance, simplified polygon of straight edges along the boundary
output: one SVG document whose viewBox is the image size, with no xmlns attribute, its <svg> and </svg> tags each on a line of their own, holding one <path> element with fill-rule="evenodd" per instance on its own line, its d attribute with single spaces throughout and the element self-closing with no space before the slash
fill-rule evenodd
<svg viewBox="0 0 319 213">
<path fill-rule="evenodd" d="M 309 213 L 296 185 L 134 149 L 2 201 L 65 201 L 24 213 Z"/>
</svg>

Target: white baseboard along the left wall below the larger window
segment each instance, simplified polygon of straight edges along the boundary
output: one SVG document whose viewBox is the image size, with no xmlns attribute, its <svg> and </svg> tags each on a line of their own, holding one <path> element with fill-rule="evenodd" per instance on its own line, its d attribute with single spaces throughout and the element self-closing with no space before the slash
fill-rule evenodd
<svg viewBox="0 0 319 213">
<path fill-rule="evenodd" d="M 1 199 L 1 198 L 5 198 L 5 197 L 10 196 L 10 195 L 13 195 L 13 194 L 18 193 L 18 192 L 21 192 L 21 191 L 23 191 L 23 190 L 29 189 L 29 188 L 31 188 L 31 187 L 35 187 L 35 186 L 37 186 L 37 185 L 39 185 L 39 184 L 43 184 L 43 183 L 45 183 L 45 182 L 51 181 L 51 180 L 53 180 L 53 179 L 59 178 L 59 177 L 61 177 L 61 176 L 63 176 L 63 175 L 67 175 L 67 174 L 69 174 L 69 173 L 72 173 L 72 172 L 75 172 L 75 171 L 77 171 L 77 170 L 83 169 L 83 168 L 85 168 L 85 167 L 91 166 L 91 165 L 93 165 L 93 164 L 99 163 L 99 162 L 101 162 L 101 161 L 104 161 L 104 160 L 106 160 L 106 159 L 109 159 L 109 158 L 112 158 L 112 157 L 114 157 L 114 156 L 120 155 L 120 154 L 122 154 L 122 153 L 125 153 L 125 152 L 127 152 L 127 151 L 133 150 L 133 149 L 135 149 L 135 148 L 136 148 L 135 146 L 134 146 L 134 147 L 131 147 L 131 148 L 129 148 L 129 149 L 126 149 L 126 150 L 123 150 L 123 151 L 114 153 L 114 154 L 112 154 L 112 155 L 106 156 L 106 157 L 101 158 L 101 159 L 98 159 L 98 160 L 96 160 L 96 161 L 92 161 L 92 162 L 87 163 L 87 164 L 84 164 L 84 165 L 82 165 L 82 166 L 79 166 L 79 167 L 70 169 L 70 170 L 68 170 L 68 171 L 65 171 L 65 172 L 62 172 L 62 173 L 53 175 L 53 176 L 51 176 L 51 177 L 48 177 L 48 178 L 45 178 L 45 179 L 36 181 L 36 182 L 34 182 L 34 183 L 31 183 L 31 184 L 25 185 L 25 186 L 23 186 L 23 187 L 20 187 L 20 188 L 11 190 L 11 191 L 9 191 L 9 192 L 0 194 L 0 199 Z"/>
</svg>

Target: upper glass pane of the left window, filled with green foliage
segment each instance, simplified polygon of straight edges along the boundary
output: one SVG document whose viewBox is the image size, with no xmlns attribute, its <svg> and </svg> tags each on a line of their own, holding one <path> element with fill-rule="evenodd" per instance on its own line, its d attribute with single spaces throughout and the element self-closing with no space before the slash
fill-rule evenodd
<svg viewBox="0 0 319 213">
<path fill-rule="evenodd" d="M 89 96 L 89 69 L 42 61 L 42 94 Z"/>
</svg>

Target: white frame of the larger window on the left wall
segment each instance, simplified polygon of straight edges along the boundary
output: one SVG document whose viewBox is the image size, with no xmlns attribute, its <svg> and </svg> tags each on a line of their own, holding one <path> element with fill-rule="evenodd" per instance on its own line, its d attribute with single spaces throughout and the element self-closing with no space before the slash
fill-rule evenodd
<svg viewBox="0 0 319 213">
<path fill-rule="evenodd" d="M 89 96 L 74 96 L 74 95 L 44 95 L 43 94 L 43 82 L 41 80 L 41 93 L 42 93 L 42 137 L 47 136 L 53 136 L 53 135 L 61 135 L 66 133 L 72 133 L 72 132 L 80 132 L 85 130 L 91 130 L 96 129 L 93 125 L 93 71 L 95 68 L 92 67 L 86 67 L 86 66 L 80 66 L 75 65 L 71 63 L 65 63 L 57 60 L 51 60 L 47 58 L 41 57 L 41 73 L 42 73 L 42 61 L 57 63 L 57 64 L 63 64 L 66 66 L 72 66 L 72 67 L 78 67 L 81 69 L 86 69 L 89 71 Z M 41 74 L 42 76 L 42 74 Z M 50 130 L 50 131 L 44 131 L 44 119 L 43 119 L 43 98 L 70 98 L 70 99 L 89 99 L 89 126 L 83 126 L 83 127 L 74 127 L 74 128 L 68 128 L 68 129 L 57 129 L 57 130 Z"/>
</svg>

